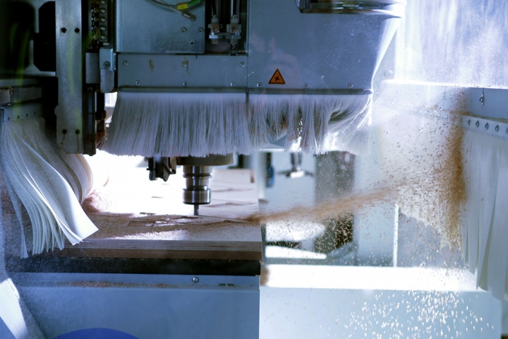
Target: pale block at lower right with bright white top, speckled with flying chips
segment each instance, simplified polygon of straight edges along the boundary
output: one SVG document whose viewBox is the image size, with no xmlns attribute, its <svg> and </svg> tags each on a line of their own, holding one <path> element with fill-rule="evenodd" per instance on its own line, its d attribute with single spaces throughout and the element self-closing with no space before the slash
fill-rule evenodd
<svg viewBox="0 0 508 339">
<path fill-rule="evenodd" d="M 472 275 L 422 268 L 268 266 L 260 338 L 500 338 L 501 303 Z"/>
</svg>

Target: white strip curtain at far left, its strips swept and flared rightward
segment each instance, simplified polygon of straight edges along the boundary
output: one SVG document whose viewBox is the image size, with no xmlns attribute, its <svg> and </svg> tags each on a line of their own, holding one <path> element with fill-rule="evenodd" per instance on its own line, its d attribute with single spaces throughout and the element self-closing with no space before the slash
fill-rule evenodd
<svg viewBox="0 0 508 339">
<path fill-rule="evenodd" d="M 65 239 L 77 244 L 97 231 L 80 206 L 92 188 L 90 167 L 47 137 L 42 117 L 18 119 L 23 108 L 12 111 L 0 127 L 1 169 L 21 226 L 21 256 L 30 247 L 32 254 L 63 249 Z M 21 203 L 31 225 L 23 223 Z"/>
</svg>

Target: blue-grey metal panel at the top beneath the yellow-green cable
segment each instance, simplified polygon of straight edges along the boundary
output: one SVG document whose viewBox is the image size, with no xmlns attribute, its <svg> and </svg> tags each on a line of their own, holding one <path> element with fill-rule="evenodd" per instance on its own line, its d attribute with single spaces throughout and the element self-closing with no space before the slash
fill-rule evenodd
<svg viewBox="0 0 508 339">
<path fill-rule="evenodd" d="M 195 20 L 146 0 L 116 1 L 116 52 L 204 53 L 205 4 L 188 12 Z"/>
</svg>

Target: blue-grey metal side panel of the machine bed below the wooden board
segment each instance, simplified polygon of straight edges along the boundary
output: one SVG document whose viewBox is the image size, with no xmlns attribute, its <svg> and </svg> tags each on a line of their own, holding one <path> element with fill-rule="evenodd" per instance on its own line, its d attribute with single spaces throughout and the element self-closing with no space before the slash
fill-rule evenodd
<svg viewBox="0 0 508 339">
<path fill-rule="evenodd" d="M 256 277 L 39 273 L 13 281 L 46 338 L 98 327 L 135 338 L 259 338 Z"/>
</svg>

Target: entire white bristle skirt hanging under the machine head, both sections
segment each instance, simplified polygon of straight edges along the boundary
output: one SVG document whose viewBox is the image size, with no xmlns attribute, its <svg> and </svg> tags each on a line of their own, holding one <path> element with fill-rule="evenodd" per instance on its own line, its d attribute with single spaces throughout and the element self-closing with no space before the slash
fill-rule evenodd
<svg viewBox="0 0 508 339">
<path fill-rule="evenodd" d="M 119 92 L 102 150 L 145 157 L 286 150 L 363 153 L 371 95 Z M 331 133 L 330 133 L 331 132 Z"/>
</svg>

